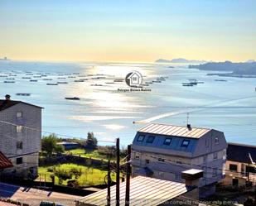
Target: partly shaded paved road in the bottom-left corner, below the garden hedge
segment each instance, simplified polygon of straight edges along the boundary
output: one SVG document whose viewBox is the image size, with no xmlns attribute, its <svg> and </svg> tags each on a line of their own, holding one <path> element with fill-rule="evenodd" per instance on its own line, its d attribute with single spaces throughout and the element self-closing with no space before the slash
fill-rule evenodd
<svg viewBox="0 0 256 206">
<path fill-rule="evenodd" d="M 3 183 L 0 183 L 0 197 L 18 200 L 22 203 L 31 204 L 31 206 L 38 206 L 41 201 L 51 201 L 65 206 L 74 206 L 75 200 L 81 198 L 76 195 L 61 194 Z"/>
</svg>

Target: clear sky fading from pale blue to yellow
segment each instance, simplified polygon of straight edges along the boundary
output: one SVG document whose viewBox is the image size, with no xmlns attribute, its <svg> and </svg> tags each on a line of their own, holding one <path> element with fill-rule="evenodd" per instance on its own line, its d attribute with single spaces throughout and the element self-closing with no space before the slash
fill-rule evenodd
<svg viewBox="0 0 256 206">
<path fill-rule="evenodd" d="M 0 58 L 256 60 L 255 0 L 0 0 Z"/>
</svg>

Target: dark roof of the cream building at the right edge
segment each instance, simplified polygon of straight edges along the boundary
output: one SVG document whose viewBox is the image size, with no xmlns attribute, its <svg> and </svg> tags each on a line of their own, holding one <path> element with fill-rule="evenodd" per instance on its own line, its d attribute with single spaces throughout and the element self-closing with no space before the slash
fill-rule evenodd
<svg viewBox="0 0 256 206">
<path fill-rule="evenodd" d="M 256 146 L 228 143 L 227 160 L 248 163 L 249 154 L 254 162 L 256 162 Z"/>
</svg>

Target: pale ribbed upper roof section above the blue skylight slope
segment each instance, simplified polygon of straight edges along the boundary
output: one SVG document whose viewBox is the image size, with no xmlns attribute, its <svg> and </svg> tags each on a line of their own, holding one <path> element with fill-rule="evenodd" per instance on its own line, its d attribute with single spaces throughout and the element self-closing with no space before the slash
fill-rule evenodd
<svg viewBox="0 0 256 206">
<path fill-rule="evenodd" d="M 151 123 L 146 127 L 142 127 L 138 132 L 167 135 L 167 136 L 178 136 L 178 137 L 191 137 L 200 138 L 203 137 L 210 129 L 197 128 L 197 127 L 182 127 L 167 124 Z"/>
</svg>

